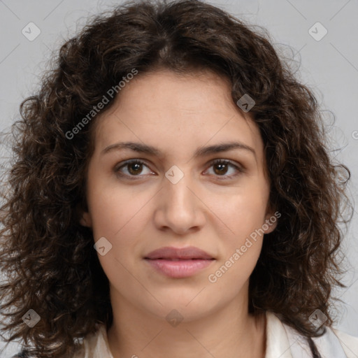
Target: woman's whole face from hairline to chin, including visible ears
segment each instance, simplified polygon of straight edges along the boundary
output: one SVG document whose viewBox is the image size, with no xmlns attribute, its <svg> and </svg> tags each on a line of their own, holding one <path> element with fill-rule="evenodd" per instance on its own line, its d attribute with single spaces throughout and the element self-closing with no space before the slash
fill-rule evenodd
<svg viewBox="0 0 358 358">
<path fill-rule="evenodd" d="M 208 72 L 139 73 L 99 115 L 81 224 L 101 238 L 111 299 L 157 317 L 176 309 L 187 321 L 234 301 L 247 308 L 262 232 L 275 217 L 259 129 L 227 82 Z M 239 144 L 218 147 L 229 143 Z M 150 255 L 189 246 L 208 257 Z"/>
</svg>

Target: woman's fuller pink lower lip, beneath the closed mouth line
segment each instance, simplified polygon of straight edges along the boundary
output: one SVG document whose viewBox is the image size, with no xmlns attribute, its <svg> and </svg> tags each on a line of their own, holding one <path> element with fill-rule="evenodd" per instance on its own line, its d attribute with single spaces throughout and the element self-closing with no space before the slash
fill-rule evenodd
<svg viewBox="0 0 358 358">
<path fill-rule="evenodd" d="M 194 275 L 203 268 L 208 267 L 213 259 L 185 259 L 185 260 L 166 260 L 166 259 L 145 259 L 151 266 L 159 272 L 171 278 L 185 278 Z"/>
</svg>

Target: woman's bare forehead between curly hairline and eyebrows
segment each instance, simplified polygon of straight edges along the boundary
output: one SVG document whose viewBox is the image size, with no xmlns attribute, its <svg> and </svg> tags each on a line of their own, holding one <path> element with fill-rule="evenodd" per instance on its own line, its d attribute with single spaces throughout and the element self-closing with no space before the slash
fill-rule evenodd
<svg viewBox="0 0 358 358">
<path fill-rule="evenodd" d="M 208 71 L 138 74 L 99 115 L 95 131 L 98 149 L 125 137 L 169 151 L 223 141 L 263 150 L 257 124 L 237 108 L 229 81 Z"/>
</svg>

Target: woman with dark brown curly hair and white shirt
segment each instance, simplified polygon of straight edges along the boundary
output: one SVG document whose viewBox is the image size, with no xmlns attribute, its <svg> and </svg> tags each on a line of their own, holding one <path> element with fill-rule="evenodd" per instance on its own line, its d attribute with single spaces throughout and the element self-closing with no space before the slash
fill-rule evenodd
<svg viewBox="0 0 358 358">
<path fill-rule="evenodd" d="M 20 108 L 0 294 L 22 356 L 357 357 L 331 316 L 350 172 L 268 37 L 127 3 Z"/>
</svg>

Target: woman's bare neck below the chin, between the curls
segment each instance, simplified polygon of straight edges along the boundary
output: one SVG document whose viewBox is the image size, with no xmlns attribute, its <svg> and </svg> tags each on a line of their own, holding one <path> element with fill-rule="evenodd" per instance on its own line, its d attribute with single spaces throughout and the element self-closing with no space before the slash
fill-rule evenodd
<svg viewBox="0 0 358 358">
<path fill-rule="evenodd" d="M 114 358 L 264 358 L 265 315 L 253 317 L 233 301 L 200 319 L 173 327 L 157 317 L 121 302 L 113 306 L 108 344 Z"/>
</svg>

